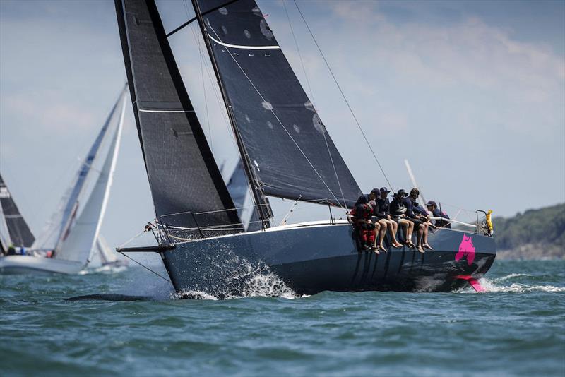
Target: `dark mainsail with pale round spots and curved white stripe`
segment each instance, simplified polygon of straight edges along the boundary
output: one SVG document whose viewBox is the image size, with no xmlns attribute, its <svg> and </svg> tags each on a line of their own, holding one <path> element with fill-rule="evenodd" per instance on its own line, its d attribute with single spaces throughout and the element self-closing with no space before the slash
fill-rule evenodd
<svg viewBox="0 0 565 377">
<path fill-rule="evenodd" d="M 351 207 L 361 194 L 254 0 L 193 0 L 263 193 Z"/>
</svg>

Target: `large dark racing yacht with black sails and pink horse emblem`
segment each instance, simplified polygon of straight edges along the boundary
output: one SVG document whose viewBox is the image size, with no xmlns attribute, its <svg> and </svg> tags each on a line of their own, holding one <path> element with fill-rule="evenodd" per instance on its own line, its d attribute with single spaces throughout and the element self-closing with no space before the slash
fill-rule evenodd
<svg viewBox="0 0 565 377">
<path fill-rule="evenodd" d="M 435 251 L 360 252 L 335 220 L 361 195 L 326 126 L 254 0 L 192 0 L 261 229 L 245 231 L 182 81 L 153 0 L 116 0 L 131 102 L 153 202 L 158 246 L 177 292 L 242 289 L 242 266 L 264 266 L 298 294 L 324 290 L 450 291 L 496 256 L 480 225 L 439 229 Z M 323 221 L 273 224 L 268 197 L 330 208 Z"/>
</svg>

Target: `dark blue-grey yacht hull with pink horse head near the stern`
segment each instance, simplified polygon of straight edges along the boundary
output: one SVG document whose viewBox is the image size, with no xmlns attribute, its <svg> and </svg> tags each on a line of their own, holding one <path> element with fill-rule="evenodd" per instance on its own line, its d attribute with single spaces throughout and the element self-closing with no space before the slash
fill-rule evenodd
<svg viewBox="0 0 565 377">
<path fill-rule="evenodd" d="M 472 237 L 472 255 L 459 253 L 465 237 Z M 311 225 L 191 241 L 162 256 L 177 292 L 219 297 L 237 294 L 247 278 L 265 272 L 297 294 L 451 292 L 468 285 L 461 277 L 482 277 L 496 257 L 494 239 L 478 234 L 442 229 L 429 242 L 436 250 L 390 248 L 377 255 L 357 251 L 350 225 Z"/>
</svg>

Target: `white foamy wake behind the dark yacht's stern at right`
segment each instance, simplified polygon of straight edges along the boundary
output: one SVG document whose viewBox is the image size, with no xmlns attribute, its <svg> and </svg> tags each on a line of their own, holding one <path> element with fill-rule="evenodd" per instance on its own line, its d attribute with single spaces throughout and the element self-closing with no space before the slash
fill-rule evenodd
<svg viewBox="0 0 565 377">
<path fill-rule="evenodd" d="M 508 285 L 509 280 L 515 280 L 517 278 L 528 278 L 533 277 L 533 275 L 529 274 L 519 274 L 519 273 L 512 273 L 509 275 L 505 275 L 502 277 L 496 277 L 494 279 L 489 279 L 487 277 L 483 277 L 479 280 L 480 285 L 484 288 L 484 292 L 475 292 L 474 289 L 465 287 L 457 291 L 457 293 L 496 293 L 496 292 L 503 292 L 503 293 L 530 293 L 530 292 L 565 292 L 565 287 L 557 287 L 554 285 L 528 285 L 525 283 L 518 283 L 518 282 L 510 282 Z"/>
</svg>

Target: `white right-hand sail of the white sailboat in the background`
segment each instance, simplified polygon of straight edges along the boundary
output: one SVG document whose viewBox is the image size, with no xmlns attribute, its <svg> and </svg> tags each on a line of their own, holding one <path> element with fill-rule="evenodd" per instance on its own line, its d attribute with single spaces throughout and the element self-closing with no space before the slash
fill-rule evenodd
<svg viewBox="0 0 565 377">
<path fill-rule="evenodd" d="M 102 218 L 108 203 L 109 189 L 112 186 L 112 176 L 116 167 L 121 127 L 124 122 L 125 101 L 122 100 L 121 102 L 118 126 L 114 134 L 110 134 L 112 136 L 112 143 L 109 146 L 102 170 L 95 172 L 93 171 L 94 169 L 90 169 L 90 174 L 98 174 L 95 186 L 81 214 L 71 224 L 71 229 L 68 231 L 69 236 L 61 242 L 57 249 L 56 258 L 78 261 L 84 264 L 88 263 L 88 258 L 93 251 L 95 241 L 100 232 L 100 225 L 102 225 Z"/>
</svg>

